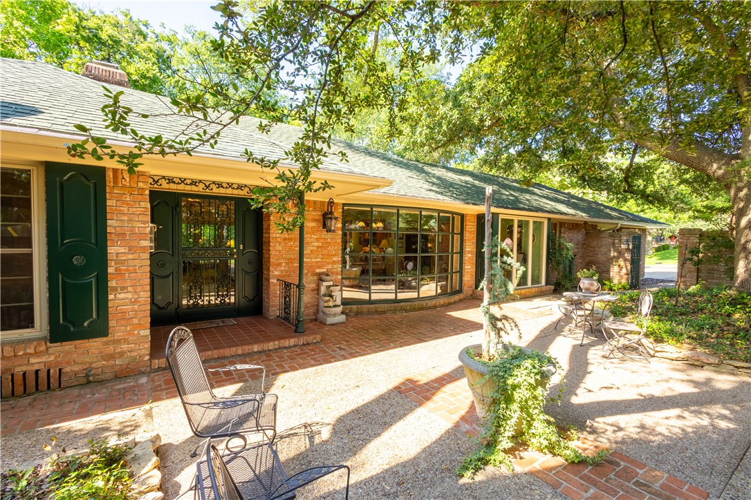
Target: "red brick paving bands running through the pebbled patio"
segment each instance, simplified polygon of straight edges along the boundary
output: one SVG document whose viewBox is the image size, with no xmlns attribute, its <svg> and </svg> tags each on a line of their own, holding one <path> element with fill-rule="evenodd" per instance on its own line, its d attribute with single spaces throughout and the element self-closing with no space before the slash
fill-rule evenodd
<svg viewBox="0 0 751 500">
<path fill-rule="evenodd" d="M 303 370 L 361 355 L 369 355 L 388 349 L 399 349 L 436 338 L 447 337 L 457 331 L 457 325 L 466 330 L 466 322 L 474 322 L 481 328 L 478 301 L 467 300 L 442 309 L 442 321 L 435 322 L 434 311 L 400 313 L 385 316 L 362 316 L 347 319 L 339 328 L 320 328 L 309 323 L 309 331 L 320 335 L 320 343 L 297 345 L 287 349 L 259 352 L 253 362 L 261 363 L 267 373 L 279 375 Z M 271 321 L 271 320 L 264 320 Z M 276 321 L 276 320 L 275 320 Z M 263 324 L 263 322 L 259 322 Z M 430 324 L 431 328 L 424 328 Z M 165 327 L 166 328 L 166 327 Z M 278 342 L 275 328 L 269 328 L 270 337 L 260 337 L 258 342 Z M 357 332 L 357 334 L 353 334 Z M 168 333 L 168 332 L 167 332 Z M 315 341 L 315 340 L 313 340 Z M 235 349 L 223 346 L 222 349 Z M 236 354 L 243 354 L 237 347 Z M 256 349 L 257 350 L 257 349 Z M 161 352 L 164 347 L 161 346 Z M 232 353 L 233 351 L 227 351 Z M 252 349 L 246 352 L 253 352 Z M 231 354 L 230 354 L 231 355 Z M 163 356 L 163 355 L 162 355 Z M 222 366 L 219 361 L 207 361 L 208 367 Z M 233 375 L 213 379 L 216 385 L 243 382 Z M 394 385 L 392 390 L 403 394 L 427 412 L 442 418 L 463 432 L 477 436 L 478 417 L 472 406 L 472 397 L 466 380 L 443 373 L 440 370 L 414 373 Z M 19 433 L 62 424 L 92 415 L 116 412 L 143 406 L 149 401 L 161 401 L 176 397 L 176 389 L 168 370 L 80 385 L 59 391 L 33 394 L 28 397 L 3 400 L 2 433 Z M 580 439 L 576 446 L 585 453 L 594 453 L 602 448 L 587 438 Z M 572 499 L 706 499 L 708 493 L 687 484 L 647 464 L 633 460 L 618 451 L 611 451 L 603 463 L 597 466 L 566 464 L 556 457 L 531 451 L 520 451 L 514 460 L 520 472 L 533 475 Z"/>
</svg>

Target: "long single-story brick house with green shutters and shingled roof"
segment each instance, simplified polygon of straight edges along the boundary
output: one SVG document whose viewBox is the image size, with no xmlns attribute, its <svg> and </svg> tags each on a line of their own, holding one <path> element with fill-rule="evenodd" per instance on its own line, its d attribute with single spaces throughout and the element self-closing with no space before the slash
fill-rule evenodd
<svg viewBox="0 0 751 500">
<path fill-rule="evenodd" d="M 89 67 L 99 78 L 122 72 Z M 136 112 L 169 113 L 169 100 L 122 88 Z M 0 63 L 2 131 L 2 396 L 23 394 L 31 373 L 75 385 L 151 369 L 150 331 L 193 319 L 280 311 L 279 281 L 297 283 L 297 232 L 254 210 L 249 190 L 270 175 L 246 163 L 283 157 L 300 129 L 270 134 L 247 118 L 215 149 L 149 157 L 136 175 L 116 163 L 71 160 L 74 124 L 105 130 L 101 82 L 32 61 Z M 185 117 L 138 121 L 141 133 L 178 133 Z M 345 313 L 439 307 L 475 291 L 481 271 L 484 190 L 493 186 L 493 232 L 526 267 L 517 291 L 550 291 L 548 235 L 576 246 L 575 268 L 639 283 L 648 228 L 664 226 L 540 184 L 403 160 L 348 142 L 348 163 L 327 160 L 314 178 L 332 190 L 306 199 L 306 318 L 318 274 L 342 282 Z M 327 232 L 333 199 L 339 217 Z M 638 286 L 638 285 L 637 285 Z M 291 328 L 291 327 L 290 327 Z M 25 378 L 26 377 L 26 378 Z M 52 382 L 50 382 L 52 381 Z M 27 390 L 27 391 L 29 391 Z"/>
</svg>

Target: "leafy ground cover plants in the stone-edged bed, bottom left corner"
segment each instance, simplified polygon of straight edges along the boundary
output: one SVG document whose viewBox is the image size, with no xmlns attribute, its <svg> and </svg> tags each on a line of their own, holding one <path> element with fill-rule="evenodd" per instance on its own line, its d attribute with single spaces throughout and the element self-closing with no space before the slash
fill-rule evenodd
<svg viewBox="0 0 751 500">
<path fill-rule="evenodd" d="M 125 445 L 89 440 L 89 453 L 53 455 L 49 465 L 2 472 L 2 500 L 128 500 L 131 478 L 123 458 Z"/>
</svg>

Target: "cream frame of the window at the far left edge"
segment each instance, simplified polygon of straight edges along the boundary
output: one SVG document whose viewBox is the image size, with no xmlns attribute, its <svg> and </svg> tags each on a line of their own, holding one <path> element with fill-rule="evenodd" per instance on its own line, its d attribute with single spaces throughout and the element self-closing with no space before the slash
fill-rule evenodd
<svg viewBox="0 0 751 500">
<path fill-rule="evenodd" d="M 47 238 L 45 237 L 44 166 L 42 163 L 2 160 L 9 169 L 32 172 L 32 255 L 34 256 L 34 324 L 35 328 L 0 332 L 0 340 L 20 340 L 47 337 Z"/>
</svg>

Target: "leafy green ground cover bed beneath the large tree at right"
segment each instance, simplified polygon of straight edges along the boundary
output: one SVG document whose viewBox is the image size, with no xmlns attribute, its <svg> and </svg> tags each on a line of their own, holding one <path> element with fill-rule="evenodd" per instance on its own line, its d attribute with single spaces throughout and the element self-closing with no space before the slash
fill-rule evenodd
<svg viewBox="0 0 751 500">
<path fill-rule="evenodd" d="M 659 289 L 647 325 L 647 337 L 661 343 L 686 344 L 719 356 L 751 362 L 751 295 L 735 289 L 702 289 L 681 292 Z M 621 295 L 611 307 L 615 316 L 635 316 L 638 291 Z"/>
</svg>

